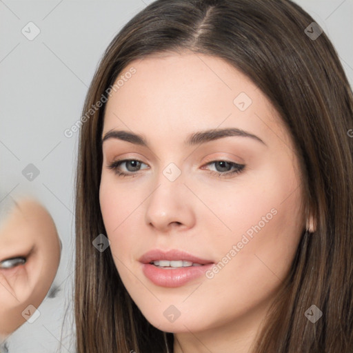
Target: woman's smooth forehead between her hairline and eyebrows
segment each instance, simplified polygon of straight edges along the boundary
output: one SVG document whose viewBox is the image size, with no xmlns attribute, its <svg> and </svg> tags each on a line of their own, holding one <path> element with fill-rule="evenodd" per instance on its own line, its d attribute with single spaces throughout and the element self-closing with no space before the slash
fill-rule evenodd
<svg viewBox="0 0 353 353">
<path fill-rule="evenodd" d="M 185 137 L 187 131 L 228 127 L 257 134 L 268 134 L 270 127 L 286 134 L 279 114 L 261 90 L 219 57 L 155 54 L 130 62 L 115 82 L 103 134 L 128 128 L 155 137 L 166 130 L 174 137 Z"/>
</svg>

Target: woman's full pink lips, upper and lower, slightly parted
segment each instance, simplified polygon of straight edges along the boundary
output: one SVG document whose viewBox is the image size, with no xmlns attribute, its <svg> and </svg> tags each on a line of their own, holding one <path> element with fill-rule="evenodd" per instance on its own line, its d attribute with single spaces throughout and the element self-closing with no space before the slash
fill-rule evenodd
<svg viewBox="0 0 353 353">
<path fill-rule="evenodd" d="M 200 263 L 202 266 L 190 266 L 188 268 L 158 268 L 150 264 L 156 260 L 184 260 L 192 261 L 193 263 Z M 139 261 L 142 263 L 143 274 L 152 281 L 155 285 L 167 288 L 180 287 L 186 283 L 199 278 L 204 275 L 206 271 L 210 270 L 214 262 L 211 260 L 201 259 L 188 252 L 181 250 L 151 250 L 141 256 Z"/>
</svg>

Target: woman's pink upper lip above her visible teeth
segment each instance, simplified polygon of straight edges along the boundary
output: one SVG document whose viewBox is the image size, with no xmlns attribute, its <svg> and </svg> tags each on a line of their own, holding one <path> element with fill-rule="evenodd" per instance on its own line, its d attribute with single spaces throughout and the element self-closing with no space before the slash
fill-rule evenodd
<svg viewBox="0 0 353 353">
<path fill-rule="evenodd" d="M 176 260 L 184 260 L 184 261 L 192 261 L 193 263 L 201 263 L 201 265 L 205 265 L 207 263 L 213 263 L 213 261 L 201 259 L 198 256 L 194 256 L 189 254 L 188 252 L 172 249 L 172 250 L 159 250 L 154 249 L 146 252 L 143 254 L 139 261 L 141 263 L 151 263 L 152 261 L 157 260 L 169 260 L 169 261 L 176 261 Z"/>
</svg>

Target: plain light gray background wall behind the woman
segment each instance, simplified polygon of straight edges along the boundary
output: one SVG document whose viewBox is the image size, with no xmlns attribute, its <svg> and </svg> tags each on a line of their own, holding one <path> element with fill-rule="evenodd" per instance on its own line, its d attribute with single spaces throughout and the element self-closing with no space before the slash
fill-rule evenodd
<svg viewBox="0 0 353 353">
<path fill-rule="evenodd" d="M 53 285 L 57 296 L 47 296 L 38 308 L 39 319 L 22 325 L 0 351 L 57 352 L 61 342 L 62 352 L 74 353 L 72 307 L 68 305 L 74 271 L 77 133 L 68 138 L 63 132 L 81 115 L 103 50 L 151 2 L 0 0 L 0 200 L 6 194 L 37 197 L 52 214 L 63 241 Z M 352 84 L 353 0 L 296 2 L 332 39 Z M 38 31 L 36 26 L 40 33 L 29 40 Z M 24 168 L 33 168 L 28 167 L 30 163 L 39 171 L 33 180 L 22 174 Z"/>
</svg>

